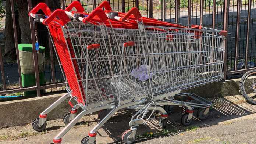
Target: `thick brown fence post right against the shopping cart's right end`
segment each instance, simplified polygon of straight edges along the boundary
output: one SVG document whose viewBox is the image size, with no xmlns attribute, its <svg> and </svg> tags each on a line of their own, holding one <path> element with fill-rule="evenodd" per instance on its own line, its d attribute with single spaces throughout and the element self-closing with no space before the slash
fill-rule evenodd
<svg viewBox="0 0 256 144">
<path fill-rule="evenodd" d="M 223 30 L 228 32 L 228 15 L 229 15 L 229 0 L 224 0 L 224 21 L 223 21 Z M 224 80 L 227 79 L 227 55 L 228 55 L 228 39 L 227 36 L 225 36 L 224 39 L 224 66 L 223 66 L 223 77 Z"/>
</svg>

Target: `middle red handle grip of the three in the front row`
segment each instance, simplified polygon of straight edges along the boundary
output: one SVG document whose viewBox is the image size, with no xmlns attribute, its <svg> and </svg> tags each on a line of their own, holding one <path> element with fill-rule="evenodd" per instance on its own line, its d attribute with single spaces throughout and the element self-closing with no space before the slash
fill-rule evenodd
<svg viewBox="0 0 256 144">
<path fill-rule="evenodd" d="M 105 14 L 105 12 L 102 10 L 102 9 L 100 9 L 100 8 L 96 8 L 95 10 L 93 10 L 89 15 L 88 15 L 88 17 L 86 17 L 86 18 L 84 18 L 83 19 L 83 22 L 84 23 L 88 23 L 88 22 L 90 22 L 94 17 L 95 17 L 95 15 L 97 15 L 99 18 L 100 18 L 100 21 L 101 22 L 105 22 L 105 21 L 107 21 L 107 15 Z"/>
</svg>

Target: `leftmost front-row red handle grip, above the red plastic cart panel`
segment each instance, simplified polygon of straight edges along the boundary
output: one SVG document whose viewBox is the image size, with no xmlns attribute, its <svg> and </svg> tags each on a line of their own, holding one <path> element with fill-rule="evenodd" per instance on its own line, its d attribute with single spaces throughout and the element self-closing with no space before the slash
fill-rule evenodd
<svg viewBox="0 0 256 144">
<path fill-rule="evenodd" d="M 60 19 L 62 26 L 67 24 L 70 21 L 70 18 L 68 17 L 68 15 L 65 13 L 64 10 L 57 9 L 48 18 L 46 18 L 43 21 L 43 24 L 45 24 L 45 25 L 49 24 L 56 17 L 58 17 Z"/>
</svg>

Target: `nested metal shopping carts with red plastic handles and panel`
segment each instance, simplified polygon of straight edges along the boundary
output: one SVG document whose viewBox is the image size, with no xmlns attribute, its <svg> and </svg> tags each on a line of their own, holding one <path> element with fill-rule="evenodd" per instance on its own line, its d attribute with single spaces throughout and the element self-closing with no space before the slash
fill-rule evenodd
<svg viewBox="0 0 256 144">
<path fill-rule="evenodd" d="M 45 14 L 49 12 L 41 9 Z M 144 25 L 136 8 L 123 16 L 100 8 L 90 14 L 77 12 L 78 16 L 56 10 L 47 18 L 35 15 L 38 10 L 35 8 L 29 15 L 47 25 L 70 87 L 68 95 L 83 109 L 54 138 L 54 143 L 61 143 L 64 134 L 83 115 L 102 109 L 111 110 L 82 144 L 96 143 L 97 130 L 123 108 L 138 109 L 129 123 L 131 129 L 122 134 L 125 143 L 134 142 L 136 127 L 147 123 L 156 110 L 161 112 L 160 125 L 166 126 L 168 115 L 162 105 L 185 106 L 181 120 L 184 125 L 191 123 L 193 107 L 202 108 L 198 110 L 200 119 L 209 115 L 209 101 L 179 93 L 223 78 L 225 32 L 180 24 Z M 70 21 L 67 14 L 78 21 Z M 174 95 L 194 101 L 178 101 Z M 149 110 L 152 112 L 146 117 Z M 34 126 L 39 130 L 45 127 L 46 116 L 41 114 Z"/>
</svg>

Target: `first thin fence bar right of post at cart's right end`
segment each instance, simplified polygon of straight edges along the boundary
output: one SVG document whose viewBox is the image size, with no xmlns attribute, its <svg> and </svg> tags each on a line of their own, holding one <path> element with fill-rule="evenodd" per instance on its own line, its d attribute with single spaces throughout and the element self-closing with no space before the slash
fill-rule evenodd
<svg viewBox="0 0 256 144">
<path fill-rule="evenodd" d="M 237 64 L 238 64 L 239 29 L 240 29 L 240 0 L 237 0 L 237 24 L 236 24 L 236 32 L 235 32 L 235 71 L 237 71 Z"/>
</svg>

